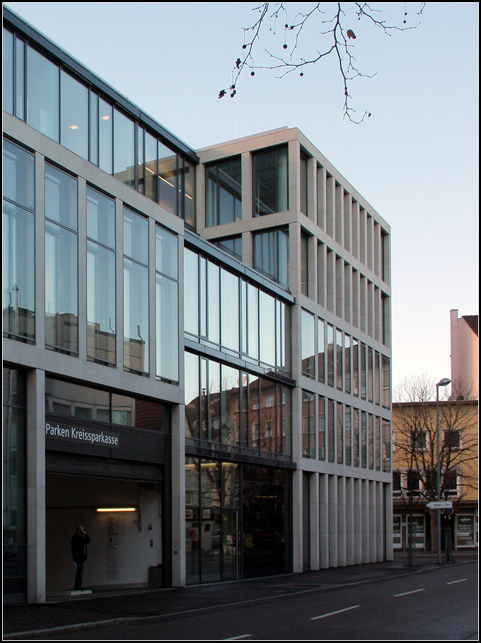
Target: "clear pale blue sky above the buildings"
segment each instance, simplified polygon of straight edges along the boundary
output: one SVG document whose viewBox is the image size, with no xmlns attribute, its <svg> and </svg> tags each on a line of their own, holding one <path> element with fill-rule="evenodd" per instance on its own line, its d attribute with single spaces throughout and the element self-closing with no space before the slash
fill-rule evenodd
<svg viewBox="0 0 481 643">
<path fill-rule="evenodd" d="M 7 6 L 192 147 L 233 139 L 235 125 L 238 137 L 299 127 L 391 226 L 393 386 L 450 376 L 449 311 L 479 307 L 477 3 L 427 3 L 418 28 L 391 37 L 352 18 L 359 69 L 376 74 L 350 88 L 359 113 L 372 113 L 361 125 L 342 119 L 333 61 L 302 78 L 246 74 L 235 101 L 217 98 L 255 4 Z M 421 4 L 371 6 L 398 24 L 406 6 L 412 24 Z M 278 27 L 275 44 L 265 40 L 274 52 L 284 42 Z M 315 30 L 306 35 L 304 57 L 315 50 Z"/>
</svg>

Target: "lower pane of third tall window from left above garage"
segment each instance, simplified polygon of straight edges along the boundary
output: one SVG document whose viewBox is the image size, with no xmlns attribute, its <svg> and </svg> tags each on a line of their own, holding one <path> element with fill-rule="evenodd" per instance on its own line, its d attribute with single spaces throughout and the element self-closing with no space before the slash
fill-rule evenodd
<svg viewBox="0 0 481 643">
<path fill-rule="evenodd" d="M 115 252 L 87 241 L 87 356 L 115 364 Z"/>
</svg>

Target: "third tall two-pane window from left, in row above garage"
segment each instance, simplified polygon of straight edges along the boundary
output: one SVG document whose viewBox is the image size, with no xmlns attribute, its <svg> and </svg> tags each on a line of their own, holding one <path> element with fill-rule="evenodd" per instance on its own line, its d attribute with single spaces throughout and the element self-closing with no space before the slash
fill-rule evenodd
<svg viewBox="0 0 481 643">
<path fill-rule="evenodd" d="M 87 188 L 87 356 L 115 364 L 115 202 Z"/>
</svg>

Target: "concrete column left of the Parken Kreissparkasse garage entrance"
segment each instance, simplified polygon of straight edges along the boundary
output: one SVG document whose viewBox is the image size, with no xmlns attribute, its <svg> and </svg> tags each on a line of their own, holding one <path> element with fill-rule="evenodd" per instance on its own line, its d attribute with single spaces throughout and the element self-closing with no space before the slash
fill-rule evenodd
<svg viewBox="0 0 481 643">
<path fill-rule="evenodd" d="M 27 601 L 45 603 L 45 372 L 27 372 Z"/>
</svg>

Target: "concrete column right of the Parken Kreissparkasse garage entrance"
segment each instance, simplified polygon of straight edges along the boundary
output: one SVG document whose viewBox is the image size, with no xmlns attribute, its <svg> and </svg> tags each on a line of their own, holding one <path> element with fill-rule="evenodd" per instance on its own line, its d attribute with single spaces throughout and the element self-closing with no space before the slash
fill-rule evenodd
<svg viewBox="0 0 481 643">
<path fill-rule="evenodd" d="M 172 408 L 172 584 L 185 586 L 185 406 Z"/>
</svg>

